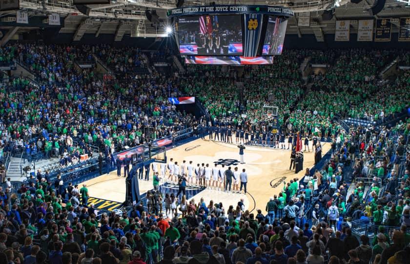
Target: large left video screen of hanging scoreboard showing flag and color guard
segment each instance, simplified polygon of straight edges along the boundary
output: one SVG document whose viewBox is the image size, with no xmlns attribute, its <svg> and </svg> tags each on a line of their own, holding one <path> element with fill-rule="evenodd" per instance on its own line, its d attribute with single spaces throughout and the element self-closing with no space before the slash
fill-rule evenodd
<svg viewBox="0 0 410 264">
<path fill-rule="evenodd" d="M 182 17 L 177 32 L 181 55 L 243 55 L 240 15 Z"/>
</svg>

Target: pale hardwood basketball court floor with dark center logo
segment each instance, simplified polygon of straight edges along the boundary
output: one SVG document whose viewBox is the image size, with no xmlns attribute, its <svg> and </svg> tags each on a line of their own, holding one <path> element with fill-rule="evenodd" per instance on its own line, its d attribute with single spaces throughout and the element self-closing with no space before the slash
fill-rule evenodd
<svg viewBox="0 0 410 264">
<path fill-rule="evenodd" d="M 309 143 L 311 144 L 311 141 Z M 248 193 L 246 195 L 243 194 L 243 191 L 242 194 L 235 194 L 187 186 L 187 198 L 194 198 L 196 203 L 201 198 L 204 198 L 206 204 L 208 204 L 210 200 L 222 202 L 225 210 L 227 210 L 227 207 L 231 204 L 236 206 L 238 201 L 244 198 L 246 209 L 261 209 L 265 212 L 266 202 L 270 197 L 273 197 L 273 195 L 279 194 L 284 187 L 284 182 L 289 182 L 290 179 L 295 177 L 300 180 L 305 174 L 305 169 L 313 167 L 314 154 L 311 145 L 309 148 L 310 152 L 304 153 L 304 170 L 298 174 L 289 170 L 290 150 L 280 148 L 273 149 L 246 146 L 244 154 L 245 164 L 239 164 L 239 149 L 236 144 L 196 139 L 171 150 L 167 150 L 166 157 L 167 162 L 170 158 L 173 158 L 174 161 L 178 161 L 179 165 L 182 164 L 183 160 L 186 161 L 186 165 L 192 160 L 194 167 L 196 167 L 197 163 L 208 163 L 209 167 L 213 168 L 215 162 L 218 162 L 219 164 L 225 164 L 225 167 L 231 166 L 232 171 L 234 167 L 238 167 L 238 171 L 240 172 L 245 168 L 248 175 Z M 322 154 L 327 153 L 329 149 L 330 144 L 322 142 Z M 157 163 L 156 165 L 158 166 L 158 171 L 160 171 L 160 164 Z M 218 165 L 218 167 L 221 167 L 221 165 Z M 167 178 L 167 175 L 168 173 L 165 178 Z M 114 204 L 114 202 L 123 202 L 125 199 L 125 178 L 118 177 L 116 170 L 109 174 L 85 181 L 84 183 L 87 184 L 89 195 L 94 201 L 96 199 L 102 199 L 112 201 Z M 140 194 L 142 195 L 152 189 L 152 170 L 150 172 L 150 180 L 140 180 L 139 185 Z M 178 191 L 177 185 L 170 183 L 162 182 L 161 187 L 160 191 L 163 193 Z M 142 199 L 144 199 L 144 197 L 145 195 L 143 195 Z M 107 202 L 105 202 L 105 204 L 107 204 Z M 96 205 L 96 207 L 99 208 L 99 205 Z M 102 207 L 99 209 L 102 209 Z"/>
</svg>

